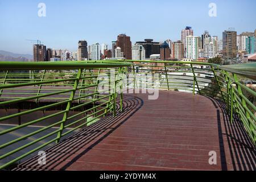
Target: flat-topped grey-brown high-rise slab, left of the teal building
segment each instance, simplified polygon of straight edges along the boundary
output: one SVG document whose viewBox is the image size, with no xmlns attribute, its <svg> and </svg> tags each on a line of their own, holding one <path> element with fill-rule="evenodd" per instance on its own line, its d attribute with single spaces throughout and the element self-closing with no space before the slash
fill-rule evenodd
<svg viewBox="0 0 256 182">
<path fill-rule="evenodd" d="M 222 34 L 223 58 L 225 60 L 237 59 L 237 32 L 226 30 Z"/>
</svg>

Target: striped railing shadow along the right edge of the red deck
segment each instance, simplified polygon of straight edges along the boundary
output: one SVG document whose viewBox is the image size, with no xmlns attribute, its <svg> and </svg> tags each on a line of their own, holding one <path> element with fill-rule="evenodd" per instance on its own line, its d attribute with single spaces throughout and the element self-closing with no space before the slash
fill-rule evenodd
<svg viewBox="0 0 256 182">
<path fill-rule="evenodd" d="M 248 137 L 245 127 L 237 114 L 233 116 L 233 123 L 227 112 L 226 105 L 219 100 L 207 97 L 213 102 L 217 110 L 218 135 L 220 141 L 220 155 L 222 171 L 230 170 L 227 163 L 232 163 L 234 171 L 255 171 L 256 170 L 256 148 Z M 221 121 L 221 113 L 223 120 Z M 222 125 L 221 125 L 222 124 Z M 224 125 L 224 128 L 222 128 Z M 228 146 L 224 144 L 224 135 Z M 228 148 L 225 148 L 228 147 Z M 225 152 L 229 152 L 231 161 L 226 158 Z"/>
</svg>

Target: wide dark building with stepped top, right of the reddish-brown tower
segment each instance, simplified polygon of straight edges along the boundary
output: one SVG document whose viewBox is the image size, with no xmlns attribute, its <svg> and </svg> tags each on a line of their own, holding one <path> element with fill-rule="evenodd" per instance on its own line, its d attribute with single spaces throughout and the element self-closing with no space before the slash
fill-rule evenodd
<svg viewBox="0 0 256 182">
<path fill-rule="evenodd" d="M 160 54 L 160 44 L 159 42 L 153 42 L 153 39 L 144 39 L 144 42 L 136 43 L 144 47 L 146 59 L 150 59 L 150 55 Z"/>
</svg>

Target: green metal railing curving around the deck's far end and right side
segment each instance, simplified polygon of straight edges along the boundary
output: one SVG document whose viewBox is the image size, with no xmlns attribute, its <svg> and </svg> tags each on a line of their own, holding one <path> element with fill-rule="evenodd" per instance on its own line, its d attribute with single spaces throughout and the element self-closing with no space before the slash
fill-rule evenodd
<svg viewBox="0 0 256 182">
<path fill-rule="evenodd" d="M 120 60 L 121 61 L 121 60 Z M 159 76 L 159 89 L 191 92 L 222 100 L 230 121 L 234 114 L 240 118 L 251 141 L 256 146 L 256 63 L 219 66 L 216 64 L 184 61 L 134 61 L 130 67 L 132 87 L 155 88 L 147 75 Z"/>
</svg>

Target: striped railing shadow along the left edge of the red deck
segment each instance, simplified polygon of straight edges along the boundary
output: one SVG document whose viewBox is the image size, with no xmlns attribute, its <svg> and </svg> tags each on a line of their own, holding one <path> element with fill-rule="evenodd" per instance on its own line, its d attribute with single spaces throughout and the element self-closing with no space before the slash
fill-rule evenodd
<svg viewBox="0 0 256 182">
<path fill-rule="evenodd" d="M 71 166 L 74 162 L 79 160 L 82 155 L 85 155 L 94 146 L 100 143 L 104 138 L 108 137 L 114 130 L 127 121 L 133 114 L 135 114 L 143 106 L 143 100 L 138 97 L 125 95 L 123 97 L 123 111 L 119 110 L 120 105 L 117 102 L 118 111 L 114 117 L 112 114 L 100 119 L 100 121 L 82 129 L 76 134 L 72 135 L 49 147 L 46 150 L 47 153 L 47 164 L 38 164 L 38 159 L 40 156 L 34 156 L 28 159 L 26 162 L 19 164 L 18 168 L 26 168 L 27 171 L 30 170 L 52 170 L 56 166 L 59 166 L 64 160 L 72 156 L 72 160 L 61 167 L 60 170 L 65 170 Z M 82 140 L 82 143 L 81 143 Z M 85 147 L 86 146 L 86 147 Z M 83 151 L 81 151 L 83 150 Z M 76 152 L 79 154 L 76 154 Z M 76 155 L 75 157 L 73 155 Z M 15 168 L 15 169 L 18 169 Z M 15 170 L 14 169 L 14 170 Z"/>
</svg>

